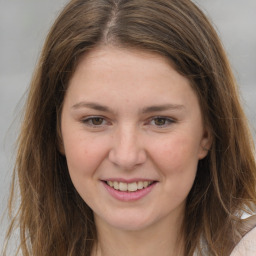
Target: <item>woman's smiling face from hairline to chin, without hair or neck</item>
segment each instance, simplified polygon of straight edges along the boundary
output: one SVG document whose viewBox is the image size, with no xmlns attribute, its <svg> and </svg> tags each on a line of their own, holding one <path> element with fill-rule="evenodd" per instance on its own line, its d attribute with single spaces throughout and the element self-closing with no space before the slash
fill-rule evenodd
<svg viewBox="0 0 256 256">
<path fill-rule="evenodd" d="M 122 230 L 181 218 L 210 143 L 197 96 L 165 58 L 107 46 L 80 60 L 61 131 L 96 225 Z"/>
</svg>

